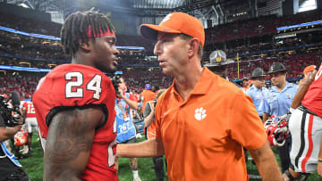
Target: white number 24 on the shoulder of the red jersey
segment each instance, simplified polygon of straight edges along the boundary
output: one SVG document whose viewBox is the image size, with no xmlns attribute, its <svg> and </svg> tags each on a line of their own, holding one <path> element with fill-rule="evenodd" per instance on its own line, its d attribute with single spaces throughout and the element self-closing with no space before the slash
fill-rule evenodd
<svg viewBox="0 0 322 181">
<path fill-rule="evenodd" d="M 65 89 L 66 98 L 81 98 L 84 97 L 84 90 L 82 87 L 84 84 L 83 75 L 80 72 L 68 72 L 65 74 L 65 80 L 68 80 Z M 93 98 L 99 99 L 101 88 L 102 77 L 100 75 L 95 75 L 91 78 L 86 85 L 86 90 L 94 91 Z"/>
</svg>

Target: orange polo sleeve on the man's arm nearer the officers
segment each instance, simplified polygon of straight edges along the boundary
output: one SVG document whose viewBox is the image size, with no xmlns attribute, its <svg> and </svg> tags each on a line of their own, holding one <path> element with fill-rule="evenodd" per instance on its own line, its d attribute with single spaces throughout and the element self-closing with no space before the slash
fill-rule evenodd
<svg viewBox="0 0 322 181">
<path fill-rule="evenodd" d="M 236 95 L 230 115 L 229 129 L 234 140 L 248 150 L 256 150 L 265 144 L 267 134 L 249 96 Z"/>
</svg>

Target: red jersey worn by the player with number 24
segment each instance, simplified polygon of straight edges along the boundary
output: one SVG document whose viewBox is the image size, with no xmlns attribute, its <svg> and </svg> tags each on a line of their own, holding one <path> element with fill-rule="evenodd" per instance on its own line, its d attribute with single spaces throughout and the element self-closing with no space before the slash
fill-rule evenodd
<svg viewBox="0 0 322 181">
<path fill-rule="evenodd" d="M 33 95 L 41 136 L 58 111 L 71 107 L 98 105 L 106 113 L 106 123 L 96 129 L 84 180 L 118 180 L 114 169 L 116 129 L 114 129 L 115 91 L 110 78 L 93 67 L 64 64 L 51 70 L 39 81 Z M 46 152 L 46 151 L 45 151 Z"/>
</svg>

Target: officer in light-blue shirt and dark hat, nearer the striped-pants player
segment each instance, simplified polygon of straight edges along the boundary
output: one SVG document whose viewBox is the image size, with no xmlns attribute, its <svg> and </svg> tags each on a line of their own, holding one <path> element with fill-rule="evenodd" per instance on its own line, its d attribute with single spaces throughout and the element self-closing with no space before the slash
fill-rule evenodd
<svg viewBox="0 0 322 181">
<path fill-rule="evenodd" d="M 296 94 L 298 87 L 286 81 L 286 69 L 281 62 L 274 62 L 268 70 L 271 77 L 272 87 L 269 94 L 265 96 L 263 121 L 265 122 L 268 116 L 275 118 L 286 114 L 291 107 L 292 99 Z M 287 136 L 283 146 L 277 147 L 278 155 L 281 160 L 282 172 L 289 168 L 290 165 L 290 149 L 292 139 Z"/>
</svg>

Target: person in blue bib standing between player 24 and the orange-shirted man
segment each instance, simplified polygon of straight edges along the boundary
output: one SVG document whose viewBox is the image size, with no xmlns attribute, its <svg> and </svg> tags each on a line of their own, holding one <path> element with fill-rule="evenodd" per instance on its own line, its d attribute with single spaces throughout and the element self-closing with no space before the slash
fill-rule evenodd
<svg viewBox="0 0 322 181">
<path fill-rule="evenodd" d="M 117 130 L 116 142 L 118 144 L 136 143 L 137 131 L 133 122 L 131 109 L 137 110 L 138 103 L 135 96 L 130 93 L 125 93 L 125 90 L 125 82 L 121 77 L 115 98 L 115 121 Z M 118 162 L 115 161 L 115 163 L 115 169 L 118 169 Z M 133 181 L 140 181 L 138 160 L 136 158 L 130 158 L 130 167 L 133 172 Z"/>
</svg>

